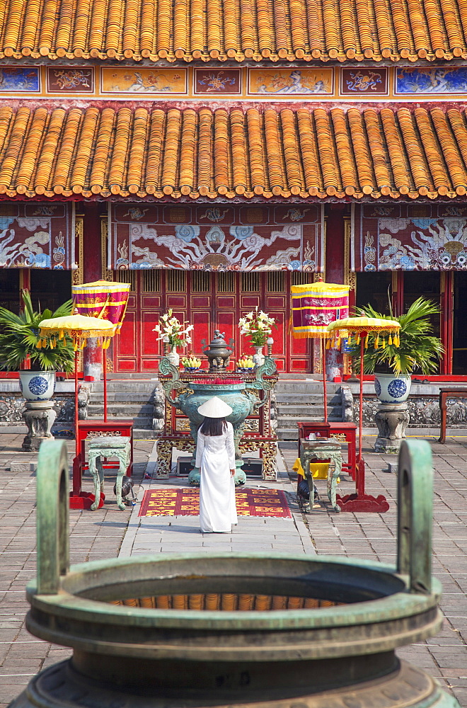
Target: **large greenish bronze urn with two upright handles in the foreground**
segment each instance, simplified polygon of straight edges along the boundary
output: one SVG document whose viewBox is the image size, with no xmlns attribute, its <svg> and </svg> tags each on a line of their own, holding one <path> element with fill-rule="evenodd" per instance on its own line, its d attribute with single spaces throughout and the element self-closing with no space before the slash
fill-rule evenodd
<svg viewBox="0 0 467 708">
<path fill-rule="evenodd" d="M 427 442 L 399 457 L 396 567 L 231 553 L 69 568 L 65 450 L 40 450 L 27 626 L 74 653 L 10 708 L 459 708 L 395 653 L 442 624 Z"/>
</svg>

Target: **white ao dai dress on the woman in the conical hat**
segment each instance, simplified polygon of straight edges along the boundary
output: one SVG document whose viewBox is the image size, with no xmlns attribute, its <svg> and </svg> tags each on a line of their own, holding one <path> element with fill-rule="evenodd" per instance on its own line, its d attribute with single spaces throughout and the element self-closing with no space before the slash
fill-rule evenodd
<svg viewBox="0 0 467 708">
<path fill-rule="evenodd" d="M 202 532 L 225 533 L 237 523 L 233 427 L 227 423 L 222 435 L 203 435 L 198 430 L 196 467 L 200 468 L 200 528 Z"/>
</svg>

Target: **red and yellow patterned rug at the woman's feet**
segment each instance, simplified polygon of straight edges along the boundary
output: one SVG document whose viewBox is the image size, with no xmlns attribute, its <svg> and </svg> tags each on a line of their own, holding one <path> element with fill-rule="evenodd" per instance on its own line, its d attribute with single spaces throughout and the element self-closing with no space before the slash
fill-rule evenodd
<svg viewBox="0 0 467 708">
<path fill-rule="evenodd" d="M 237 489 L 238 516 L 292 518 L 287 497 L 279 489 Z M 199 489 L 149 489 L 144 492 L 139 516 L 198 516 Z"/>
</svg>

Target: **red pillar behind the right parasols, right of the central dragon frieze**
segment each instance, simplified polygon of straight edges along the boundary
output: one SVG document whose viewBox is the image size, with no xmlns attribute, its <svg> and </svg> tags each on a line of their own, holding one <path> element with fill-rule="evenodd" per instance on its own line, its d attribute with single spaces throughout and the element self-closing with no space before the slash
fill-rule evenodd
<svg viewBox="0 0 467 708">
<path fill-rule="evenodd" d="M 325 256 L 325 281 L 345 282 L 345 224 L 344 215 L 347 205 L 326 205 L 326 256 Z M 329 379 L 342 376 L 344 358 L 335 349 L 326 350 L 326 372 Z"/>
</svg>

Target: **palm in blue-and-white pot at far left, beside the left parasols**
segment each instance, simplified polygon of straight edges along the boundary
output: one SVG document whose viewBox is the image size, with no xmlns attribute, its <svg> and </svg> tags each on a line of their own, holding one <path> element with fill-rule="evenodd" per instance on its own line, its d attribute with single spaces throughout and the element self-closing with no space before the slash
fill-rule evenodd
<svg viewBox="0 0 467 708">
<path fill-rule="evenodd" d="M 0 307 L 0 369 L 18 370 L 26 400 L 47 401 L 54 392 L 55 371 L 73 370 L 74 350 L 66 335 L 53 348 L 40 346 L 39 325 L 43 319 L 70 314 L 71 300 L 52 313 L 50 309 L 35 311 L 28 290 L 22 290 L 21 297 L 21 314 Z M 28 369 L 20 370 L 25 364 Z"/>
</svg>

